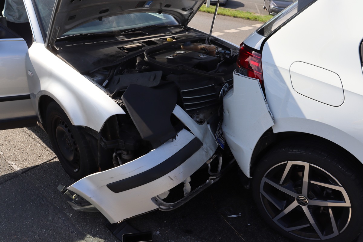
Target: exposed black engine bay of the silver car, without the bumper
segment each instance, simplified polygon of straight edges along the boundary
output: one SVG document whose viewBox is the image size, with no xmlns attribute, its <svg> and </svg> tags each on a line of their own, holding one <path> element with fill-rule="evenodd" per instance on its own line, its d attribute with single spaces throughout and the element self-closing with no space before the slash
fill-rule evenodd
<svg viewBox="0 0 363 242">
<path fill-rule="evenodd" d="M 56 47 L 59 58 L 126 113 L 111 116 L 99 134 L 89 131 L 100 171 L 129 163 L 175 139 L 186 127 L 172 114 L 176 105 L 197 124 L 208 124 L 211 133 L 217 133 L 223 96 L 233 86 L 236 46 L 217 38 L 208 42 L 205 34 L 191 30 L 152 39 L 66 41 Z M 203 179 L 193 178 L 198 180 L 193 189 L 214 174 L 211 167 L 220 172 L 221 157 L 213 156 L 211 164 L 200 168 L 196 177 Z M 163 201 L 173 203 L 186 194 L 180 188 L 170 192 Z"/>
</svg>

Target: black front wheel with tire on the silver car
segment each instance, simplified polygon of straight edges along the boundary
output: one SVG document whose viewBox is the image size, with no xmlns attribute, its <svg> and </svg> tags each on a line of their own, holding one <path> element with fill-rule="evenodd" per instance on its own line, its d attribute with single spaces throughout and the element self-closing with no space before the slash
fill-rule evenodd
<svg viewBox="0 0 363 242">
<path fill-rule="evenodd" d="M 46 127 L 54 152 L 70 177 L 79 180 L 97 171 L 97 163 L 81 128 L 74 126 L 55 102 L 46 109 Z"/>
</svg>

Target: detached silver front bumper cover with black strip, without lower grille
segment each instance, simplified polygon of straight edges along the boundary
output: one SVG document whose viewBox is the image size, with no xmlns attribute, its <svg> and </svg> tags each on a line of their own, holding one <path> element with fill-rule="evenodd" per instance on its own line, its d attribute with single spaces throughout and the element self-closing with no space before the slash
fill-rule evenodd
<svg viewBox="0 0 363 242">
<path fill-rule="evenodd" d="M 67 188 L 75 193 L 73 198 L 81 196 L 90 203 L 87 210 L 94 206 L 111 223 L 158 209 L 161 205 L 152 199 L 191 176 L 218 146 L 206 123 L 197 124 L 179 106 L 173 114 L 190 132 L 183 129 L 175 140 L 138 159 L 75 182 Z"/>
</svg>

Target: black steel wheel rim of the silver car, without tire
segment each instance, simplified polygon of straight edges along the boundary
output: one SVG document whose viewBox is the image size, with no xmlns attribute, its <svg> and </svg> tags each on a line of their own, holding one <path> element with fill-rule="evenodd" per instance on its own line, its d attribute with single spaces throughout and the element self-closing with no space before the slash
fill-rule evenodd
<svg viewBox="0 0 363 242">
<path fill-rule="evenodd" d="M 61 118 L 53 120 L 54 139 L 68 169 L 77 172 L 81 165 L 78 145 L 68 124 Z"/>
</svg>

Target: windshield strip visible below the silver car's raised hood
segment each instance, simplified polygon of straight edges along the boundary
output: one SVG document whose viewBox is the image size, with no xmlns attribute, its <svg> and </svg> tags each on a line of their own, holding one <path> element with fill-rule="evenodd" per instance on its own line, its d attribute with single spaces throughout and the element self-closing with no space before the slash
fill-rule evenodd
<svg viewBox="0 0 363 242">
<path fill-rule="evenodd" d="M 83 24 L 62 35 L 68 36 L 82 33 L 114 33 L 118 34 L 128 29 L 146 27 L 150 25 L 179 24 L 174 17 L 165 13 L 129 13 L 103 18 Z"/>
</svg>

